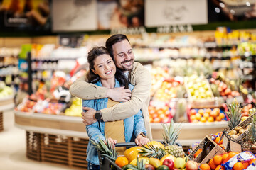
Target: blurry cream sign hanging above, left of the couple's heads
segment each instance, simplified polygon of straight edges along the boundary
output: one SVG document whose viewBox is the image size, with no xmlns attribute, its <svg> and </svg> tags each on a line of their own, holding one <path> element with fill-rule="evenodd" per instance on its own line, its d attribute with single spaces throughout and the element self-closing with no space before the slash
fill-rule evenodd
<svg viewBox="0 0 256 170">
<path fill-rule="evenodd" d="M 97 30 L 96 0 L 53 1 L 53 31 Z"/>
</svg>

